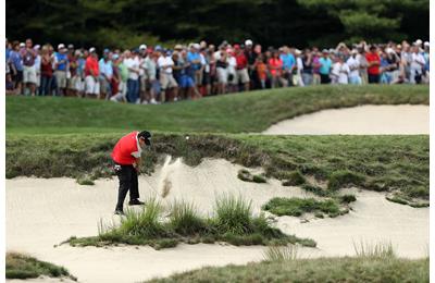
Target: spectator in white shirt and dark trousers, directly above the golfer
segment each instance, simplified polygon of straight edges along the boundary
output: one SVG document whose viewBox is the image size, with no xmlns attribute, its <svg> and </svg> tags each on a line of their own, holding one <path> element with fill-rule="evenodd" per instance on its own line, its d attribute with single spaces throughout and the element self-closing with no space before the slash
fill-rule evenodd
<svg viewBox="0 0 435 283">
<path fill-rule="evenodd" d="M 128 70 L 127 79 L 127 101 L 130 103 L 140 103 L 139 98 L 139 58 L 137 51 L 133 53 L 129 50 L 125 51 L 124 64 Z"/>
</svg>

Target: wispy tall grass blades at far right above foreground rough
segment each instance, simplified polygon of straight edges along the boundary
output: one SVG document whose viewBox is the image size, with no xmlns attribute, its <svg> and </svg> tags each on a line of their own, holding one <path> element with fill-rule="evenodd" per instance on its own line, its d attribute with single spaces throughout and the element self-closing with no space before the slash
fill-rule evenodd
<svg viewBox="0 0 435 283">
<path fill-rule="evenodd" d="M 364 243 L 363 241 L 359 244 L 353 242 L 353 250 L 358 258 L 396 258 L 396 251 L 390 242 L 375 244 Z"/>
</svg>

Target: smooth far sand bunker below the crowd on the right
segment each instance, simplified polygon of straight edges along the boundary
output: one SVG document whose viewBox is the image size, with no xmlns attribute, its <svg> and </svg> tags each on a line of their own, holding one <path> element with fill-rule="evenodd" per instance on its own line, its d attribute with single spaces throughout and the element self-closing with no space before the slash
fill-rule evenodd
<svg viewBox="0 0 435 283">
<path fill-rule="evenodd" d="M 428 134 L 428 106 L 360 106 L 322 110 L 272 125 L 266 135 Z"/>
</svg>

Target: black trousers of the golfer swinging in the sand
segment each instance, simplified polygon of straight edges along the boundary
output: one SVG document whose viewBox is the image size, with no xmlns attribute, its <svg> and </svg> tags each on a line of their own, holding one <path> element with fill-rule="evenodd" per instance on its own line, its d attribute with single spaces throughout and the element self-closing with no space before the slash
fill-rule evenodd
<svg viewBox="0 0 435 283">
<path fill-rule="evenodd" d="M 133 165 L 121 165 L 116 171 L 120 180 L 120 189 L 117 192 L 116 210 L 123 210 L 124 199 L 129 190 L 129 200 L 139 198 L 139 185 L 137 181 L 137 171 Z"/>
</svg>

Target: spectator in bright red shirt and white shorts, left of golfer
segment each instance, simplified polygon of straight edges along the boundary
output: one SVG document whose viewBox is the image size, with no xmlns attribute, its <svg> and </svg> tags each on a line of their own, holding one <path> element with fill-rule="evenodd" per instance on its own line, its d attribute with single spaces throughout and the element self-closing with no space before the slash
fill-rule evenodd
<svg viewBox="0 0 435 283">
<path fill-rule="evenodd" d="M 85 93 L 87 98 L 98 98 L 100 95 L 99 75 L 98 56 L 95 47 L 91 47 L 85 64 Z"/>
</svg>

